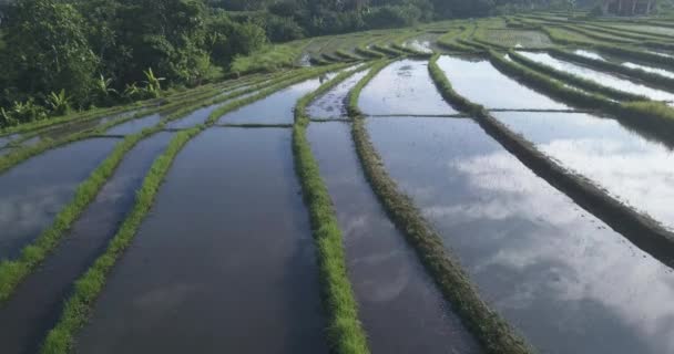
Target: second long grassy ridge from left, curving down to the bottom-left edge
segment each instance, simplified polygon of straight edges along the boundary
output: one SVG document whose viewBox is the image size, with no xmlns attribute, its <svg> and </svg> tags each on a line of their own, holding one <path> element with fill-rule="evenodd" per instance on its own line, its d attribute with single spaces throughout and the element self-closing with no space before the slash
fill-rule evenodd
<svg viewBox="0 0 674 354">
<path fill-rule="evenodd" d="M 93 266 L 75 282 L 74 291 L 67 300 L 63 313 L 55 326 L 49 332 L 41 348 L 43 354 L 65 354 L 73 350 L 74 336 L 76 332 L 86 323 L 95 300 L 100 295 L 105 284 L 108 274 L 114 267 L 116 260 L 122 256 L 126 247 L 131 244 L 143 219 L 150 211 L 154 197 L 159 191 L 161 183 L 168 171 L 173 159 L 181 148 L 196 134 L 208 126 L 213 126 L 217 119 L 227 112 L 241 106 L 262 100 L 274 92 L 292 85 L 294 82 L 307 80 L 330 70 L 344 67 L 344 64 L 326 66 L 321 69 L 303 70 L 302 75 L 276 84 L 273 88 L 264 90 L 257 95 L 238 100 L 214 111 L 205 125 L 200 125 L 187 131 L 181 131 L 162 156 L 153 164 L 150 173 L 145 177 L 141 189 L 136 195 L 136 202 L 126 216 L 126 219 L 118 230 L 118 233 L 110 241 L 108 249 L 101 254 Z"/>
</svg>

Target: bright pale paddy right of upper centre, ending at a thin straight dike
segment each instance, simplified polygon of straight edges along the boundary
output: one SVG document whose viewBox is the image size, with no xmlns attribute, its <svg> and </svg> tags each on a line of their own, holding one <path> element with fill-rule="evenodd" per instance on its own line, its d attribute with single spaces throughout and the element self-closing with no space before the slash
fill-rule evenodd
<svg viewBox="0 0 674 354">
<path fill-rule="evenodd" d="M 488 108 L 569 110 L 501 74 L 487 60 L 442 55 L 438 65 L 460 95 Z"/>
</svg>

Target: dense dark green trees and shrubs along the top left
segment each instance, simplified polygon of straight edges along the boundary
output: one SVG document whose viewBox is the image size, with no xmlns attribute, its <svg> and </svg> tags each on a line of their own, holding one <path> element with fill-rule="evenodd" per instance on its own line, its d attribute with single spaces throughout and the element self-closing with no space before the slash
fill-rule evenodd
<svg viewBox="0 0 674 354">
<path fill-rule="evenodd" d="M 269 41 L 549 0 L 0 0 L 0 126 L 198 85 Z"/>
</svg>

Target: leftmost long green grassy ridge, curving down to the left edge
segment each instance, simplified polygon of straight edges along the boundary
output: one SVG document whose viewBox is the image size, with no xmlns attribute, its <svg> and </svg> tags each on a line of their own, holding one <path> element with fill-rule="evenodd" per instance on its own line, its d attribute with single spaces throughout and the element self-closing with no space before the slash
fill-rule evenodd
<svg viewBox="0 0 674 354">
<path fill-rule="evenodd" d="M 275 86 L 273 86 L 275 88 L 280 88 L 292 85 L 295 82 L 305 80 L 308 75 L 315 75 L 314 72 L 316 71 L 309 71 L 309 73 L 303 73 L 303 71 L 292 72 L 288 75 L 279 75 L 279 77 L 273 79 L 268 83 L 275 84 Z M 258 88 L 258 86 L 252 86 L 247 90 L 235 92 L 229 95 L 223 95 L 211 101 L 183 107 L 182 110 L 178 110 L 163 118 L 154 127 L 125 137 L 115 147 L 113 153 L 111 153 L 111 155 L 90 175 L 90 177 L 80 184 L 74 198 L 63 207 L 59 215 L 57 215 L 52 225 L 42 231 L 40 237 L 38 237 L 33 242 L 24 247 L 21 251 L 21 256 L 18 259 L 2 260 L 0 262 L 0 303 L 7 300 L 12 294 L 17 285 L 27 275 L 29 275 L 31 271 L 57 247 L 72 223 L 85 210 L 88 205 L 95 199 L 98 192 L 103 187 L 108 178 L 112 176 L 124 155 L 141 139 L 163 129 L 166 123 L 181 118 L 203 106 L 232 100 L 236 96 L 245 94 L 248 91 L 255 91 Z"/>
</svg>

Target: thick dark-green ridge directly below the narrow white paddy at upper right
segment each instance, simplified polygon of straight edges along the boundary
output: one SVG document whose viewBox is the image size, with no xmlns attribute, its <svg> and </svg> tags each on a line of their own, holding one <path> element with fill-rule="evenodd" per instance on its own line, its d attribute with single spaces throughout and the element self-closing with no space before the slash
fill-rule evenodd
<svg viewBox="0 0 674 354">
<path fill-rule="evenodd" d="M 510 55 L 513 60 L 522 60 L 514 52 L 511 52 Z M 578 107 L 601 110 L 613 115 L 626 126 L 647 133 L 670 146 L 674 144 L 674 108 L 662 102 L 649 100 L 613 102 L 605 96 L 582 92 L 566 86 L 562 81 L 551 79 L 550 76 L 564 76 L 552 67 L 547 66 L 535 71 L 542 64 L 528 67 L 515 61 L 508 61 L 493 51 L 489 51 L 489 56 L 497 69 L 528 86 Z M 569 84 L 573 85 L 572 82 Z"/>
</svg>

